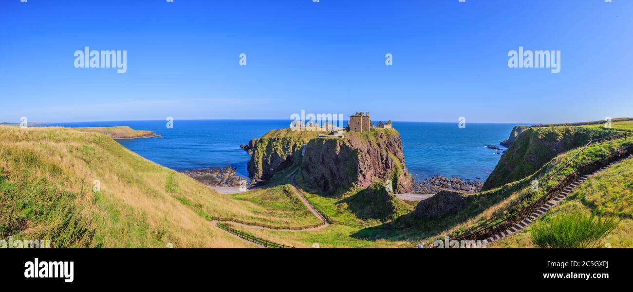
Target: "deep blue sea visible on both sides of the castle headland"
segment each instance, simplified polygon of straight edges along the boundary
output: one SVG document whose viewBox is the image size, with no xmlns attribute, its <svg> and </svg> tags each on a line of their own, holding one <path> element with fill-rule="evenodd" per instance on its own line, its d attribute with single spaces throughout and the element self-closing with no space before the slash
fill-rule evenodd
<svg viewBox="0 0 633 292">
<path fill-rule="evenodd" d="M 123 146 L 162 166 L 176 171 L 230 165 L 237 174 L 248 176 L 250 155 L 239 145 L 261 137 L 272 129 L 287 128 L 286 120 L 175 120 L 100 121 L 54 123 L 51 126 L 91 127 L 130 126 L 135 130 L 154 131 L 163 138 L 118 140 Z M 393 122 L 403 140 L 406 167 L 417 180 L 442 176 L 460 176 L 485 180 L 501 155 L 486 145 L 501 147 L 518 124 Z M 505 149 L 505 147 L 501 147 Z"/>
</svg>

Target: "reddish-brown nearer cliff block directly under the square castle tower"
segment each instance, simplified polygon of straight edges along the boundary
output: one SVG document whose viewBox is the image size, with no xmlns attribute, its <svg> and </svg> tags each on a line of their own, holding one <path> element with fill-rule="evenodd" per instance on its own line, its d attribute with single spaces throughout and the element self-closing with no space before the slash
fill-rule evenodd
<svg viewBox="0 0 633 292">
<path fill-rule="evenodd" d="M 391 179 L 394 193 L 413 190 L 413 178 L 404 166 L 402 141 L 394 129 L 310 140 L 301 171 L 303 183 L 329 195 L 351 187 L 367 188 L 375 179 Z"/>
</svg>

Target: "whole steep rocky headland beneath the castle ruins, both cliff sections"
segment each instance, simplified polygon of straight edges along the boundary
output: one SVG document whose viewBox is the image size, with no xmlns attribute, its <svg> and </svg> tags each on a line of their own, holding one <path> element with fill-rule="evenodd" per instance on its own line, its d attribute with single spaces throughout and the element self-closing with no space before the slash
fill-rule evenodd
<svg viewBox="0 0 633 292">
<path fill-rule="evenodd" d="M 387 179 L 391 179 L 394 193 L 413 190 L 398 131 L 349 132 L 344 138 L 316 135 L 316 131 L 270 131 L 254 143 L 249 176 L 257 182 L 298 166 L 301 183 L 326 195 L 367 188 Z"/>
</svg>

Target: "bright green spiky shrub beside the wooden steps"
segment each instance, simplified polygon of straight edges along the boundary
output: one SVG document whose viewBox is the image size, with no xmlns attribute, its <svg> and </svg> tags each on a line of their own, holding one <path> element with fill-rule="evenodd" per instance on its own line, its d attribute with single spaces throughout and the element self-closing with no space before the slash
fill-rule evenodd
<svg viewBox="0 0 633 292">
<path fill-rule="evenodd" d="M 540 248 L 592 248 L 613 230 L 620 219 L 596 214 L 558 214 L 532 226 L 532 243 Z"/>
</svg>

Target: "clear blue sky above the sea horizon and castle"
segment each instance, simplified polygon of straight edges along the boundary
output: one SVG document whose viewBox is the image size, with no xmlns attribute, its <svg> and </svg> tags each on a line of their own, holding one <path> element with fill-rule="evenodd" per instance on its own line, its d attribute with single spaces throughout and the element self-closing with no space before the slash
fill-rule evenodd
<svg viewBox="0 0 633 292">
<path fill-rule="evenodd" d="M 629 0 L 0 0 L 0 121 L 633 116 L 632 15 Z M 75 68 L 85 46 L 126 50 L 127 73 Z M 560 73 L 508 68 L 519 46 L 560 50 Z"/>
</svg>

